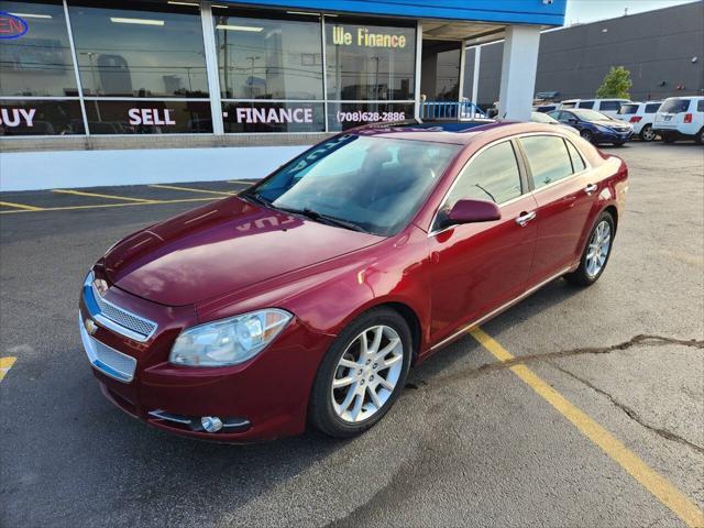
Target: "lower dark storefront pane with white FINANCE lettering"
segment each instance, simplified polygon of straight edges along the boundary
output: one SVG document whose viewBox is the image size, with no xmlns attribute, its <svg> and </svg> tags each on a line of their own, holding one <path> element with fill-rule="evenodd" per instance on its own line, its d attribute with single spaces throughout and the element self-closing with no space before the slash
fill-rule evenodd
<svg viewBox="0 0 704 528">
<path fill-rule="evenodd" d="M 321 102 L 224 102 L 226 132 L 324 132 Z"/>
</svg>

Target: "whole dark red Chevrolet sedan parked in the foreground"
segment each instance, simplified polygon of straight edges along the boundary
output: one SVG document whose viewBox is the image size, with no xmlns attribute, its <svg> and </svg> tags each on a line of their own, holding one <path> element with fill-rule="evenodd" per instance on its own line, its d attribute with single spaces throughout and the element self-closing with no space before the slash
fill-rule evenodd
<svg viewBox="0 0 704 528">
<path fill-rule="evenodd" d="M 624 162 L 550 125 L 448 129 L 339 134 L 111 248 L 79 315 L 103 394 L 189 437 L 349 437 L 466 330 L 598 279 Z"/>
</svg>

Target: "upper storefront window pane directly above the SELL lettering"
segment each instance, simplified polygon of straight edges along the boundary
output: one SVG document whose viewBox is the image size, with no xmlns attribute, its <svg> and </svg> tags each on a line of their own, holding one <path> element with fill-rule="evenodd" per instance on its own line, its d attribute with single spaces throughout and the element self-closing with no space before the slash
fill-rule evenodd
<svg viewBox="0 0 704 528">
<path fill-rule="evenodd" d="M 197 6 L 69 2 L 69 16 L 86 96 L 208 97 Z"/>
</svg>

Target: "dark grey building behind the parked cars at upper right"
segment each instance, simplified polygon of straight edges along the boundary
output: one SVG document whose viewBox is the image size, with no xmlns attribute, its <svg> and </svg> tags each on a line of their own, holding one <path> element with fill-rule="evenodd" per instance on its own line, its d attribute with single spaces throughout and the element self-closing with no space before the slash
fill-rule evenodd
<svg viewBox="0 0 704 528">
<path fill-rule="evenodd" d="M 498 100 L 504 44 L 470 47 L 464 95 L 476 102 Z M 536 92 L 558 91 L 559 100 L 593 98 L 612 66 L 630 70 L 634 101 L 704 95 L 704 2 L 548 30 L 540 36 Z"/>
</svg>

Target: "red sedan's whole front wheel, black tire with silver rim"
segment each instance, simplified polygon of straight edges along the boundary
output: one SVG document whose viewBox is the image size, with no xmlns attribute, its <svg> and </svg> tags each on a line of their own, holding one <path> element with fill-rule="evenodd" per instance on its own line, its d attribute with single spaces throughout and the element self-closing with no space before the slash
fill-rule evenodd
<svg viewBox="0 0 704 528">
<path fill-rule="evenodd" d="M 378 329 L 382 336 L 377 341 Z M 374 353 L 365 356 L 362 336 L 366 337 L 367 350 L 378 342 L 378 353 L 389 351 L 376 359 Z M 408 323 L 389 308 L 370 310 L 352 321 L 337 337 L 318 369 L 310 393 L 309 422 L 333 438 L 354 437 L 374 426 L 404 388 L 413 344 Z M 386 363 L 391 366 L 384 367 Z M 333 388 L 334 381 L 339 382 L 338 388 Z"/>
</svg>

